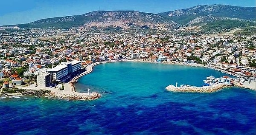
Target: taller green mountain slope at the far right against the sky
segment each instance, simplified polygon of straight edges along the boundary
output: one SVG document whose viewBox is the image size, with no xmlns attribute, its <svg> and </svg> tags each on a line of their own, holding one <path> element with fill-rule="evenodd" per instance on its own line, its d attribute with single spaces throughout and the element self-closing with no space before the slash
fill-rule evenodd
<svg viewBox="0 0 256 135">
<path fill-rule="evenodd" d="M 211 15 L 209 17 L 228 17 L 255 21 L 255 9 L 255 7 L 238 7 L 229 5 L 200 5 L 175 11 L 167 11 L 159 13 L 159 15 L 169 17 L 182 25 L 186 25 L 197 17 L 205 17 L 209 15 Z"/>
</svg>

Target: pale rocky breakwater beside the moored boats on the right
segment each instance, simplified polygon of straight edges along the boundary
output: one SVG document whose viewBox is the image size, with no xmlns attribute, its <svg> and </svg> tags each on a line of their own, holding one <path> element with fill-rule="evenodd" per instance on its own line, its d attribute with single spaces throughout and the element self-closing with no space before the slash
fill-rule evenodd
<svg viewBox="0 0 256 135">
<path fill-rule="evenodd" d="M 186 93 L 213 93 L 225 87 L 230 87 L 230 85 L 214 84 L 211 86 L 203 86 L 203 87 L 191 87 L 191 86 L 175 87 L 174 85 L 169 85 L 166 87 L 166 90 L 172 91 L 172 92 L 186 92 Z"/>
</svg>

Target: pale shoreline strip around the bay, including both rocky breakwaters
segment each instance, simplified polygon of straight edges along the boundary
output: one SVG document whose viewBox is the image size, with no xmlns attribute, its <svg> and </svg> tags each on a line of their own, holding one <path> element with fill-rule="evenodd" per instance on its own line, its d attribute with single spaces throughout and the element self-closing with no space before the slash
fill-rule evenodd
<svg viewBox="0 0 256 135">
<path fill-rule="evenodd" d="M 101 94 L 99 93 L 80 93 L 80 92 L 76 92 L 75 87 L 74 87 L 74 83 L 78 81 L 78 79 L 88 73 L 91 73 L 93 71 L 93 67 L 95 65 L 99 65 L 99 64 L 104 64 L 104 63 L 112 63 L 112 62 L 145 62 L 145 63 L 160 63 L 160 64 L 169 64 L 169 65 L 185 65 L 185 66 L 193 66 L 193 67 L 203 67 L 203 68 L 211 68 L 213 70 L 218 70 L 217 68 L 212 68 L 212 67 L 208 67 L 205 65 L 201 65 L 201 64 L 183 64 L 183 63 L 174 63 L 174 62 L 156 62 L 154 60 L 142 60 L 142 59 L 130 59 L 130 60 L 111 60 L 111 61 L 103 61 L 103 62 L 95 62 L 92 64 L 87 65 L 85 68 L 86 70 L 79 74 L 78 76 L 75 76 L 73 79 L 70 80 L 70 82 L 67 82 L 66 84 L 64 84 L 64 90 L 59 90 L 57 88 L 49 88 L 49 87 L 42 87 L 42 88 L 38 88 L 32 85 L 29 85 L 29 87 L 21 87 L 21 86 L 16 86 L 19 89 L 25 89 L 25 90 L 50 90 L 50 93 L 47 94 L 42 94 L 45 96 L 51 96 L 51 97 L 55 97 L 55 98 L 60 98 L 60 99 L 70 99 L 70 100 L 95 100 L 98 98 L 101 98 Z M 220 72 L 222 72 L 221 70 L 218 70 Z M 222 72 L 224 73 L 224 72 Z M 233 75 L 232 75 L 233 76 Z M 237 87 L 241 87 L 241 88 L 246 88 L 246 89 L 250 89 L 250 90 L 255 90 L 255 88 L 246 86 L 246 85 L 241 85 L 239 83 L 235 83 L 234 84 Z M 166 90 L 168 91 L 172 91 L 172 92 L 194 92 L 194 93 L 212 93 L 212 92 L 216 92 L 218 90 L 221 90 L 225 87 L 230 87 L 227 85 L 216 85 L 216 86 L 212 86 L 212 87 L 175 87 L 173 85 L 169 85 L 166 87 Z M 2 91 L 0 91 L 1 93 Z M 3 95 L 3 94 L 2 94 Z M 22 93 L 15 93 L 15 94 L 8 94 L 6 96 L 12 96 L 12 95 L 20 95 L 23 96 L 24 94 Z M 29 94 L 26 94 L 29 95 Z M 30 94 L 31 95 L 31 94 Z M 33 94 L 32 94 L 33 95 Z"/>
</svg>

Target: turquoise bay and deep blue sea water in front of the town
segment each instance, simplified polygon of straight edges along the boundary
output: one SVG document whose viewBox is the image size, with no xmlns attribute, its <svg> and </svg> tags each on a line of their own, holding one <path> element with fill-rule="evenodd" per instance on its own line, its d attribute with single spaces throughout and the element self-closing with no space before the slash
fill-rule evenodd
<svg viewBox="0 0 256 135">
<path fill-rule="evenodd" d="M 44 96 L 0 98 L 0 135 L 255 135 L 256 93 L 230 87 L 215 93 L 174 93 L 172 84 L 202 86 L 216 70 L 161 63 L 96 65 L 76 90 L 93 101 Z"/>
</svg>

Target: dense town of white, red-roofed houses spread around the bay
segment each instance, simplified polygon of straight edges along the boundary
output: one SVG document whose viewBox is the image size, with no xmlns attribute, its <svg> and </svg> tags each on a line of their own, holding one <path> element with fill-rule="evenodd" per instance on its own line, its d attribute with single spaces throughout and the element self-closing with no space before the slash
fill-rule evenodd
<svg viewBox="0 0 256 135">
<path fill-rule="evenodd" d="M 0 33 L 0 86 L 35 84 L 63 89 L 63 84 L 87 65 L 112 60 L 204 66 L 255 82 L 255 46 L 255 35 L 110 34 L 79 28 L 31 28 Z"/>
</svg>

